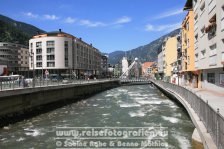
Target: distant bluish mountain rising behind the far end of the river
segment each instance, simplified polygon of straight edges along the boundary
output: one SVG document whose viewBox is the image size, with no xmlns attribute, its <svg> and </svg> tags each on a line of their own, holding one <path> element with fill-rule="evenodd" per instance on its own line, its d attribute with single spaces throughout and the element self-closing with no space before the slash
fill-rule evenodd
<svg viewBox="0 0 224 149">
<path fill-rule="evenodd" d="M 109 63 L 114 65 L 117 64 L 122 57 L 124 57 L 125 55 L 129 58 L 129 59 L 134 59 L 134 58 L 138 58 L 142 63 L 146 62 L 146 61 L 155 61 L 157 59 L 157 55 L 158 55 L 158 49 L 161 48 L 163 41 L 165 40 L 166 37 L 169 36 L 175 36 L 177 34 L 180 33 L 181 29 L 176 29 L 160 38 L 158 38 L 155 41 L 152 41 L 151 43 L 144 45 L 144 46 L 140 46 L 138 48 L 129 50 L 129 51 L 115 51 L 112 53 L 109 53 Z"/>
</svg>

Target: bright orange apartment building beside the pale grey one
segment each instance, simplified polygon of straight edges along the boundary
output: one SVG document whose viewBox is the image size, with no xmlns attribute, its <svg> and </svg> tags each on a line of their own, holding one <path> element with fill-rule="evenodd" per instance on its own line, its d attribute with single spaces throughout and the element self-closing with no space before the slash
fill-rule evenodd
<svg viewBox="0 0 224 149">
<path fill-rule="evenodd" d="M 197 42 L 194 42 L 194 12 L 189 10 L 182 22 L 182 84 L 197 87 L 198 75 L 195 71 L 195 49 L 198 48 Z"/>
</svg>

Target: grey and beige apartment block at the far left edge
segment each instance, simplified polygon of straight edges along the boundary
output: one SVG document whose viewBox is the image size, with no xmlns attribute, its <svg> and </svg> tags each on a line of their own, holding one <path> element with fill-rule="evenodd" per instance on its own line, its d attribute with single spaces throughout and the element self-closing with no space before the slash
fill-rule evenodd
<svg viewBox="0 0 224 149">
<path fill-rule="evenodd" d="M 0 42 L 0 64 L 11 74 L 26 75 L 29 71 L 29 50 L 21 44 Z"/>
</svg>

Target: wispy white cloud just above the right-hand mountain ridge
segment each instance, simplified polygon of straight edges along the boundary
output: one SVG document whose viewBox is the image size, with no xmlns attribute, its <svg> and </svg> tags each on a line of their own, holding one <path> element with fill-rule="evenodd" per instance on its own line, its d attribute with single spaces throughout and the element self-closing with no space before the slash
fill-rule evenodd
<svg viewBox="0 0 224 149">
<path fill-rule="evenodd" d="M 181 23 L 174 23 L 174 24 L 165 24 L 165 25 L 152 25 L 152 24 L 147 24 L 145 26 L 145 30 L 148 32 L 161 32 L 161 31 L 166 31 L 170 32 L 175 29 L 178 29 L 181 27 Z"/>
</svg>

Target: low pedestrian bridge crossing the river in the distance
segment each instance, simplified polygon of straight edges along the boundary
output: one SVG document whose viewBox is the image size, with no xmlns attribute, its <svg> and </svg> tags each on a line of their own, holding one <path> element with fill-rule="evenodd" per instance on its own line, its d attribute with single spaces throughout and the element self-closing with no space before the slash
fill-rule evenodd
<svg viewBox="0 0 224 149">
<path fill-rule="evenodd" d="M 120 79 L 121 84 L 123 85 L 141 85 L 141 84 L 151 84 L 151 81 L 148 79 Z"/>
</svg>

